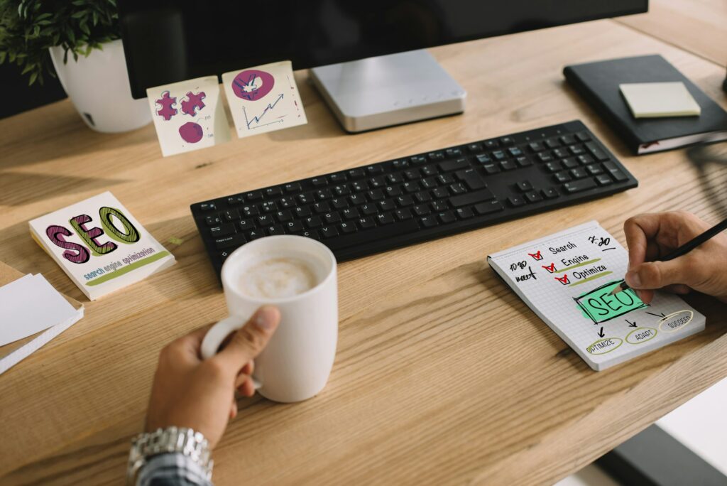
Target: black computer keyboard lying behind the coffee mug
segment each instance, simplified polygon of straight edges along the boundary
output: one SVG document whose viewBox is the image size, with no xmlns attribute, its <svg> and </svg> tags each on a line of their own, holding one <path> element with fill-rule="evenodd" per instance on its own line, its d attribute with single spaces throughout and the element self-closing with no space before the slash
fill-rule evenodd
<svg viewBox="0 0 727 486">
<path fill-rule="evenodd" d="M 274 234 L 318 239 L 339 261 L 614 194 L 636 179 L 582 122 L 191 205 L 219 274 L 237 247 Z"/>
</svg>

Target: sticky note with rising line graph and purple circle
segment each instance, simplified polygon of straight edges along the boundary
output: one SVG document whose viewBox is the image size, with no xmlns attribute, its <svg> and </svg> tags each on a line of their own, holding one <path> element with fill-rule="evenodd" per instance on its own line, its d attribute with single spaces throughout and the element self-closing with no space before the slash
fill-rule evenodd
<svg viewBox="0 0 727 486">
<path fill-rule="evenodd" d="M 290 61 L 222 74 L 240 138 L 308 123 Z"/>
</svg>

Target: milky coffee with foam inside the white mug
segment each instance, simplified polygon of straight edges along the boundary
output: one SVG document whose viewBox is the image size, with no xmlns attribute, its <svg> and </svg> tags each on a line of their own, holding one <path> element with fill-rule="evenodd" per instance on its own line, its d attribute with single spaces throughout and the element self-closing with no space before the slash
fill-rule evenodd
<svg viewBox="0 0 727 486">
<path fill-rule="evenodd" d="M 252 298 L 289 298 L 316 287 L 316 272 L 298 258 L 254 260 L 240 272 L 238 285 Z"/>
</svg>

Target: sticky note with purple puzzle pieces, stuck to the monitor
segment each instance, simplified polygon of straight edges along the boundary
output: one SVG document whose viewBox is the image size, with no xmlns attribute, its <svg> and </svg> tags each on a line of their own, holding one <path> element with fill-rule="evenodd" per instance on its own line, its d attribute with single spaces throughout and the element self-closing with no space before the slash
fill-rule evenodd
<svg viewBox="0 0 727 486">
<path fill-rule="evenodd" d="M 217 76 L 149 88 L 146 94 L 165 157 L 230 140 Z"/>
</svg>

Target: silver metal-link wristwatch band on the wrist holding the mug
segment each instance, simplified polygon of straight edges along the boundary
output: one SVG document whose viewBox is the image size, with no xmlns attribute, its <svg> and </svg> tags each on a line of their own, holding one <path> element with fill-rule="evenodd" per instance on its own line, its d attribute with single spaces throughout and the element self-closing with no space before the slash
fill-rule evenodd
<svg viewBox="0 0 727 486">
<path fill-rule="evenodd" d="M 132 439 L 126 485 L 133 485 L 139 469 L 148 458 L 158 454 L 180 453 L 194 461 L 212 479 L 214 461 L 209 457 L 209 444 L 204 435 L 187 427 L 167 427 L 139 434 Z"/>
</svg>

